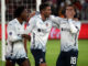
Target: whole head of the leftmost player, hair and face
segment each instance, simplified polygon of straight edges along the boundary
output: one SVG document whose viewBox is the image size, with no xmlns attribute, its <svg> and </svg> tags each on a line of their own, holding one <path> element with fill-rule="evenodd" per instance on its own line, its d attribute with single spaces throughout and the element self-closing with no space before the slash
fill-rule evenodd
<svg viewBox="0 0 88 66">
<path fill-rule="evenodd" d="M 14 11 L 14 18 L 21 18 L 22 20 L 26 20 L 28 12 L 23 6 L 18 7 Z"/>
</svg>

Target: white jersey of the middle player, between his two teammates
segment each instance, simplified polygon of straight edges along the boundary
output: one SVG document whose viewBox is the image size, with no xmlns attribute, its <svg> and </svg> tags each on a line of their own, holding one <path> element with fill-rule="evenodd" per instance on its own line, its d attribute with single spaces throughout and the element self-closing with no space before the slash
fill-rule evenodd
<svg viewBox="0 0 88 66">
<path fill-rule="evenodd" d="M 25 33 L 31 33 L 31 48 L 38 48 L 45 52 L 48 34 L 52 29 L 52 21 L 42 20 L 41 14 L 33 16 L 29 21 Z"/>
</svg>

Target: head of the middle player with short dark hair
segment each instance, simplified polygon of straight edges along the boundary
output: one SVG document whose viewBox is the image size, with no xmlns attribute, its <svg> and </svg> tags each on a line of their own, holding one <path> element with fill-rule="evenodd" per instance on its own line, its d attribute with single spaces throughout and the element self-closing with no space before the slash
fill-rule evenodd
<svg viewBox="0 0 88 66">
<path fill-rule="evenodd" d="M 42 3 L 42 4 L 40 6 L 40 12 L 41 12 L 42 14 L 44 14 L 45 18 L 48 18 L 48 16 L 51 15 L 51 13 L 52 13 L 52 11 L 51 11 L 51 6 L 47 4 L 47 3 Z"/>
</svg>

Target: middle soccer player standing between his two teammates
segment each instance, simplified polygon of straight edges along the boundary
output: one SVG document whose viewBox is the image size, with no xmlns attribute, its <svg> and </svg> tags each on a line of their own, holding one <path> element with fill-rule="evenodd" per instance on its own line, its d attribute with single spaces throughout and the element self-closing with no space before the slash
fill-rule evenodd
<svg viewBox="0 0 88 66">
<path fill-rule="evenodd" d="M 46 66 L 46 42 L 52 25 L 54 25 L 48 19 L 51 14 L 51 6 L 47 3 L 41 4 L 40 12 L 40 14 L 30 19 L 25 33 L 31 33 L 31 52 L 35 59 L 35 66 Z"/>
</svg>

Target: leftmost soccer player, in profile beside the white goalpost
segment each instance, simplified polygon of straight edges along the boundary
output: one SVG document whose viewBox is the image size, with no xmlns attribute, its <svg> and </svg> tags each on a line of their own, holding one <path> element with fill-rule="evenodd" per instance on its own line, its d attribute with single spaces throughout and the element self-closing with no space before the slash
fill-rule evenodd
<svg viewBox="0 0 88 66">
<path fill-rule="evenodd" d="M 7 40 L 7 52 L 6 52 L 6 66 L 31 66 L 24 48 L 24 21 L 26 20 L 26 10 L 24 7 L 19 7 L 14 11 L 12 21 L 8 23 L 8 40 Z M 30 36 L 29 36 L 30 37 Z"/>
</svg>

